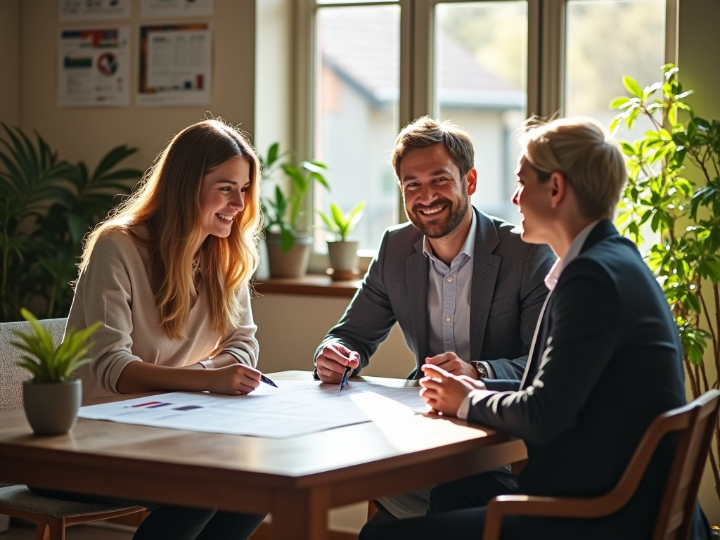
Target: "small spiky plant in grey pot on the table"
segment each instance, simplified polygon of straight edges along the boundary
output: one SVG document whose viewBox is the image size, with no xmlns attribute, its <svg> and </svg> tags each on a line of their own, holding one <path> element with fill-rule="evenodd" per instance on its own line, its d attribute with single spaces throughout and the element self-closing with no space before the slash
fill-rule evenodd
<svg viewBox="0 0 720 540">
<path fill-rule="evenodd" d="M 32 379 L 22 384 L 22 400 L 27 421 L 37 435 L 60 435 L 68 433 L 75 423 L 83 390 L 80 379 L 71 375 L 80 366 L 90 362 L 87 340 L 100 325 L 75 331 L 68 328 L 58 348 L 53 346 L 53 336 L 37 322 L 28 310 L 20 310 L 22 316 L 35 330 L 35 334 L 13 333 L 22 341 L 12 344 L 25 351 L 18 366 L 27 369 Z"/>
</svg>

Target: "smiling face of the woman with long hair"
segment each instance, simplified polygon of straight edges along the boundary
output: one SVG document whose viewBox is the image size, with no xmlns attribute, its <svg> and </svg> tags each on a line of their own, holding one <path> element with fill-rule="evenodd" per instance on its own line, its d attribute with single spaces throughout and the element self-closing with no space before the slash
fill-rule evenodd
<svg viewBox="0 0 720 540">
<path fill-rule="evenodd" d="M 227 238 L 233 221 L 245 208 L 245 192 L 250 186 L 250 164 L 244 158 L 232 158 L 212 169 L 200 186 L 201 238 L 215 235 Z"/>
</svg>

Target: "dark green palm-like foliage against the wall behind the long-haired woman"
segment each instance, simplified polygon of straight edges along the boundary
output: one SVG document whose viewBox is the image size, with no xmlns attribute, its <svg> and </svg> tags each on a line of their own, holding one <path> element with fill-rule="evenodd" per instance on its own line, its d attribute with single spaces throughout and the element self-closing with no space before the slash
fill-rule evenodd
<svg viewBox="0 0 720 540">
<path fill-rule="evenodd" d="M 21 305 L 42 305 L 42 315 L 65 317 L 77 277 L 82 239 L 127 194 L 142 171 L 117 169 L 135 153 L 122 145 L 92 174 L 82 161 L 61 161 L 35 134 L 2 125 L 0 137 L 0 320 L 17 320 Z M 40 300 L 40 302 L 38 302 Z"/>
</svg>

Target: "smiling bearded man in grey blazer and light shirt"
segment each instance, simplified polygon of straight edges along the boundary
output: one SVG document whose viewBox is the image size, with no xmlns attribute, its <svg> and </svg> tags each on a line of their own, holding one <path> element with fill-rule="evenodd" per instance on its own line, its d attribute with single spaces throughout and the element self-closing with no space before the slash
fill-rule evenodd
<svg viewBox="0 0 720 540">
<path fill-rule="evenodd" d="M 358 292 L 315 352 L 315 375 L 339 383 L 366 366 L 392 325 L 415 354 L 410 379 L 433 364 L 473 379 L 520 379 L 555 261 L 514 225 L 474 209 L 467 132 L 422 117 L 395 140 L 392 166 L 409 223 L 387 229 Z M 383 498 L 375 519 L 482 506 L 516 490 L 509 468 Z"/>
</svg>

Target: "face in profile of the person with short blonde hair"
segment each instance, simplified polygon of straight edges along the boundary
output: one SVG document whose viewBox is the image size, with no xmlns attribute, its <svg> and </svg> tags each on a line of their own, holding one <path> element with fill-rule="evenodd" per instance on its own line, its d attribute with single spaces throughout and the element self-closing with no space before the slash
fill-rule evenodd
<svg viewBox="0 0 720 540">
<path fill-rule="evenodd" d="M 552 178 L 541 182 L 531 163 L 523 156 L 518 163 L 518 187 L 513 203 L 523 215 L 521 238 L 528 243 L 548 243 L 554 222 Z"/>
</svg>

